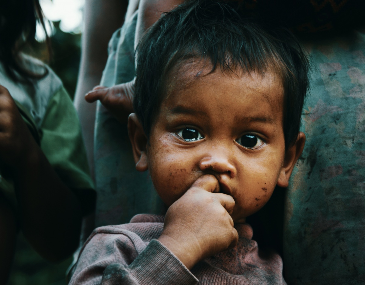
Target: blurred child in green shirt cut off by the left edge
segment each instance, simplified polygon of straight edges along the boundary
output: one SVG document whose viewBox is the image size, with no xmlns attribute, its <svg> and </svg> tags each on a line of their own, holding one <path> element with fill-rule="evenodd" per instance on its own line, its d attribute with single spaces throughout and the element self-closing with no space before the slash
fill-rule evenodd
<svg viewBox="0 0 365 285">
<path fill-rule="evenodd" d="M 76 250 L 95 199 L 69 95 L 48 66 L 21 52 L 37 16 L 43 22 L 39 1 L 0 3 L 0 284 L 19 230 L 43 258 L 61 261 Z"/>
</svg>

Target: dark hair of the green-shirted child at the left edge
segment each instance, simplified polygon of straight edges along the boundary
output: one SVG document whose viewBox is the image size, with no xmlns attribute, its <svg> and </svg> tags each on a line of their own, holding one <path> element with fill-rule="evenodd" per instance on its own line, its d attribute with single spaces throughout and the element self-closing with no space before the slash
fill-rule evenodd
<svg viewBox="0 0 365 285">
<path fill-rule="evenodd" d="M 45 31 L 47 49 L 51 54 L 50 38 L 46 32 L 39 0 L 0 1 L 0 61 L 14 81 L 23 79 L 29 83 L 29 79 L 41 78 L 48 72 L 47 69 L 43 74 L 29 71 L 23 66 L 20 56 L 23 47 L 34 41 L 37 20 Z"/>
</svg>

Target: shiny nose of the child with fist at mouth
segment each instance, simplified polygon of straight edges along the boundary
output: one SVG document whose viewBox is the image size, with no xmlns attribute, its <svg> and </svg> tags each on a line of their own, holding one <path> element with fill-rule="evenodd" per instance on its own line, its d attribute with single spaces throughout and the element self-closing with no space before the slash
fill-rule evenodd
<svg viewBox="0 0 365 285">
<path fill-rule="evenodd" d="M 208 172 L 217 172 L 227 174 L 230 178 L 236 176 L 237 170 L 228 160 L 228 157 L 222 153 L 215 153 L 204 156 L 199 163 L 200 170 Z M 214 173 L 212 173 L 214 174 Z"/>
</svg>

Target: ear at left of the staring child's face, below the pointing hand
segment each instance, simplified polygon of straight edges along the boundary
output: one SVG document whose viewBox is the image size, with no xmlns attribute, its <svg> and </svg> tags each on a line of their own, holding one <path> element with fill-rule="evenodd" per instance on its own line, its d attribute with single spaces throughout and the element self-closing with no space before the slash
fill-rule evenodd
<svg viewBox="0 0 365 285">
<path fill-rule="evenodd" d="M 136 170 L 146 171 L 148 169 L 147 137 L 135 113 L 130 114 L 128 117 L 128 135 L 132 143 Z"/>
</svg>

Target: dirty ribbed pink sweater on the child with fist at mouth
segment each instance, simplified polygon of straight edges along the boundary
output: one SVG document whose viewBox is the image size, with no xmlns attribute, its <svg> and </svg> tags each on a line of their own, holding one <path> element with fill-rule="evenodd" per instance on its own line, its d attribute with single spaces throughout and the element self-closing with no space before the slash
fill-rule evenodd
<svg viewBox="0 0 365 285">
<path fill-rule="evenodd" d="M 279 255 L 258 255 L 252 228 L 238 224 L 237 246 L 189 271 L 156 240 L 164 217 L 134 216 L 129 224 L 95 229 L 81 250 L 70 284 L 286 284 Z"/>
</svg>

